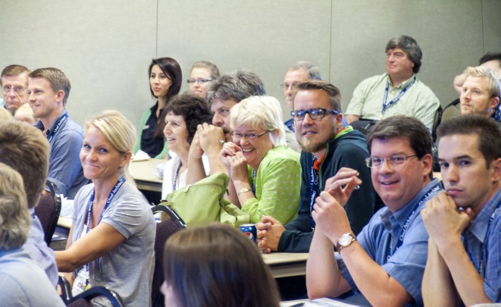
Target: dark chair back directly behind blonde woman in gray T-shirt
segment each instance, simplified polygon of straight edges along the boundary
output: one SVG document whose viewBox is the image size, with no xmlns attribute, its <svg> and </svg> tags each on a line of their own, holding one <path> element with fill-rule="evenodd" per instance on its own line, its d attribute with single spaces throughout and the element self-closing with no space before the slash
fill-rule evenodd
<svg viewBox="0 0 501 307">
<path fill-rule="evenodd" d="M 151 287 L 151 305 L 163 306 L 164 298 L 160 293 L 160 285 L 163 282 L 163 246 L 165 241 L 174 232 L 186 228 L 184 221 L 177 215 L 177 213 L 164 205 L 155 205 L 151 207 L 153 213 L 164 212 L 170 218 L 156 223 L 156 236 L 155 236 L 155 268 L 153 270 L 153 283 Z"/>
</svg>

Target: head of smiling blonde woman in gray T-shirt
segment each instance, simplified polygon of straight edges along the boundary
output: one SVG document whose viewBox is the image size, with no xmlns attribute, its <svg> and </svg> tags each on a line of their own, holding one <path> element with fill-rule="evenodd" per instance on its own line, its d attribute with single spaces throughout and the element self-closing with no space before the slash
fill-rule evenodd
<svg viewBox="0 0 501 307">
<path fill-rule="evenodd" d="M 128 171 L 136 131 L 120 112 L 110 110 L 92 118 L 84 125 L 80 160 L 84 176 L 96 183 L 125 177 L 134 182 Z"/>
</svg>

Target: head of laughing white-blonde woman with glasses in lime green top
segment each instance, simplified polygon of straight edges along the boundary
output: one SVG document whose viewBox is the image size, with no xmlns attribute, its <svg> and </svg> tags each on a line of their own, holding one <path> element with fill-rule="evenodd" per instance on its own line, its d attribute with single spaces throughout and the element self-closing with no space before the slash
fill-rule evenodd
<svg viewBox="0 0 501 307">
<path fill-rule="evenodd" d="M 233 142 L 254 169 L 268 150 L 286 144 L 280 102 L 272 96 L 251 96 L 233 106 L 230 127 Z"/>
</svg>

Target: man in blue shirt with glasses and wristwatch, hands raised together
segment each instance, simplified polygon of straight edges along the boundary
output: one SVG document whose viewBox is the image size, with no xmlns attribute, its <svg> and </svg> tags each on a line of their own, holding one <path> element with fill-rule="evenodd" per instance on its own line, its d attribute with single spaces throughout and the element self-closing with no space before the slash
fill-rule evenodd
<svg viewBox="0 0 501 307">
<path fill-rule="evenodd" d="M 431 145 L 426 126 L 415 117 L 389 117 L 369 132 L 366 162 L 386 207 L 356 238 L 343 205 L 364 182 L 350 168 L 328 180 L 312 212 L 316 228 L 306 265 L 308 296 L 343 294 L 349 301 L 378 306 L 422 305 L 428 234 L 419 211 L 441 190 L 438 180 L 430 179 Z"/>
</svg>

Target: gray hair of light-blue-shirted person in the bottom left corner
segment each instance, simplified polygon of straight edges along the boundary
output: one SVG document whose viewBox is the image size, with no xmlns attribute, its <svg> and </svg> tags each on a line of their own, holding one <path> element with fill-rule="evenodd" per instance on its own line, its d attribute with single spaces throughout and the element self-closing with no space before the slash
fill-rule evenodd
<svg viewBox="0 0 501 307">
<path fill-rule="evenodd" d="M 30 213 L 23 178 L 12 167 L 0 163 L 0 246 L 21 247 L 30 231 Z"/>
</svg>

